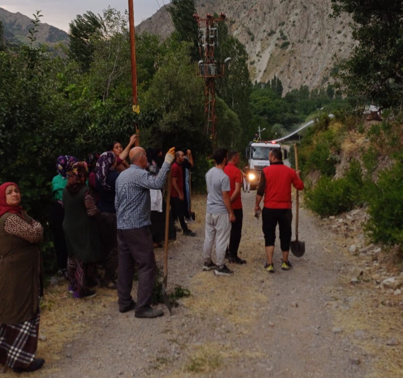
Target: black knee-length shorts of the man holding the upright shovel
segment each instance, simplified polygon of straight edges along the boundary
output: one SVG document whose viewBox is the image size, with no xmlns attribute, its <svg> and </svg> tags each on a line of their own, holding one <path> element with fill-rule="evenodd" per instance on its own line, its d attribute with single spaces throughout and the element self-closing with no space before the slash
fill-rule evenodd
<svg viewBox="0 0 403 378">
<path fill-rule="evenodd" d="M 291 209 L 268 209 L 264 207 L 262 211 L 264 245 L 266 247 L 274 245 L 274 241 L 276 240 L 276 226 L 278 223 L 281 251 L 289 251 L 292 236 L 292 220 L 293 213 Z"/>
</svg>

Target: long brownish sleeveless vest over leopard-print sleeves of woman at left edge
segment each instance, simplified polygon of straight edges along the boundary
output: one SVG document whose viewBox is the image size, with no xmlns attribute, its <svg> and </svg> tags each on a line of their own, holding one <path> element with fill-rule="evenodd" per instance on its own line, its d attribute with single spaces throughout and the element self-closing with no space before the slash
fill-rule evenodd
<svg viewBox="0 0 403 378">
<path fill-rule="evenodd" d="M 0 217 L 0 324 L 31 320 L 39 308 L 39 248 L 4 231 L 10 215 Z"/>
</svg>

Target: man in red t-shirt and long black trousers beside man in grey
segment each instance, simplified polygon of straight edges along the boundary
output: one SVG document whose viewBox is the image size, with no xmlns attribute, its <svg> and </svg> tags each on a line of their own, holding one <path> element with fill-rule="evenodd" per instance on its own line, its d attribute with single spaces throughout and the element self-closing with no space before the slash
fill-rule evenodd
<svg viewBox="0 0 403 378">
<path fill-rule="evenodd" d="M 228 260 L 230 263 L 245 264 L 246 261 L 238 257 L 239 243 L 241 242 L 242 233 L 242 201 L 241 201 L 241 185 L 242 173 L 237 167 L 239 164 L 239 153 L 237 151 L 228 152 L 228 164 L 224 167 L 224 173 L 229 177 L 231 190 L 229 196 L 231 206 L 234 210 L 235 222 L 231 223 L 231 236 L 229 246 L 227 248 Z"/>
</svg>

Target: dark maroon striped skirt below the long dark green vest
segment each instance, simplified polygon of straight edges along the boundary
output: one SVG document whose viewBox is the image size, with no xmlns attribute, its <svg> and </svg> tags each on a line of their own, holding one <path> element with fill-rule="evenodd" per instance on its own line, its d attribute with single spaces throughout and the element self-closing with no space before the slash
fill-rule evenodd
<svg viewBox="0 0 403 378">
<path fill-rule="evenodd" d="M 67 279 L 71 290 L 80 295 L 88 293 L 88 288 L 101 283 L 96 263 L 83 263 L 78 257 L 67 259 Z"/>
</svg>

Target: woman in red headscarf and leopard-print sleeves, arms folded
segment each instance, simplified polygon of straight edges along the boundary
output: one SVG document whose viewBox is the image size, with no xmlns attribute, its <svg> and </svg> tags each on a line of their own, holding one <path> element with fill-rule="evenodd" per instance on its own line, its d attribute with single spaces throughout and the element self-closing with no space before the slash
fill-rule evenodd
<svg viewBox="0 0 403 378">
<path fill-rule="evenodd" d="M 0 186 L 0 365 L 33 372 L 39 331 L 42 225 L 21 207 L 17 184 Z"/>
</svg>

